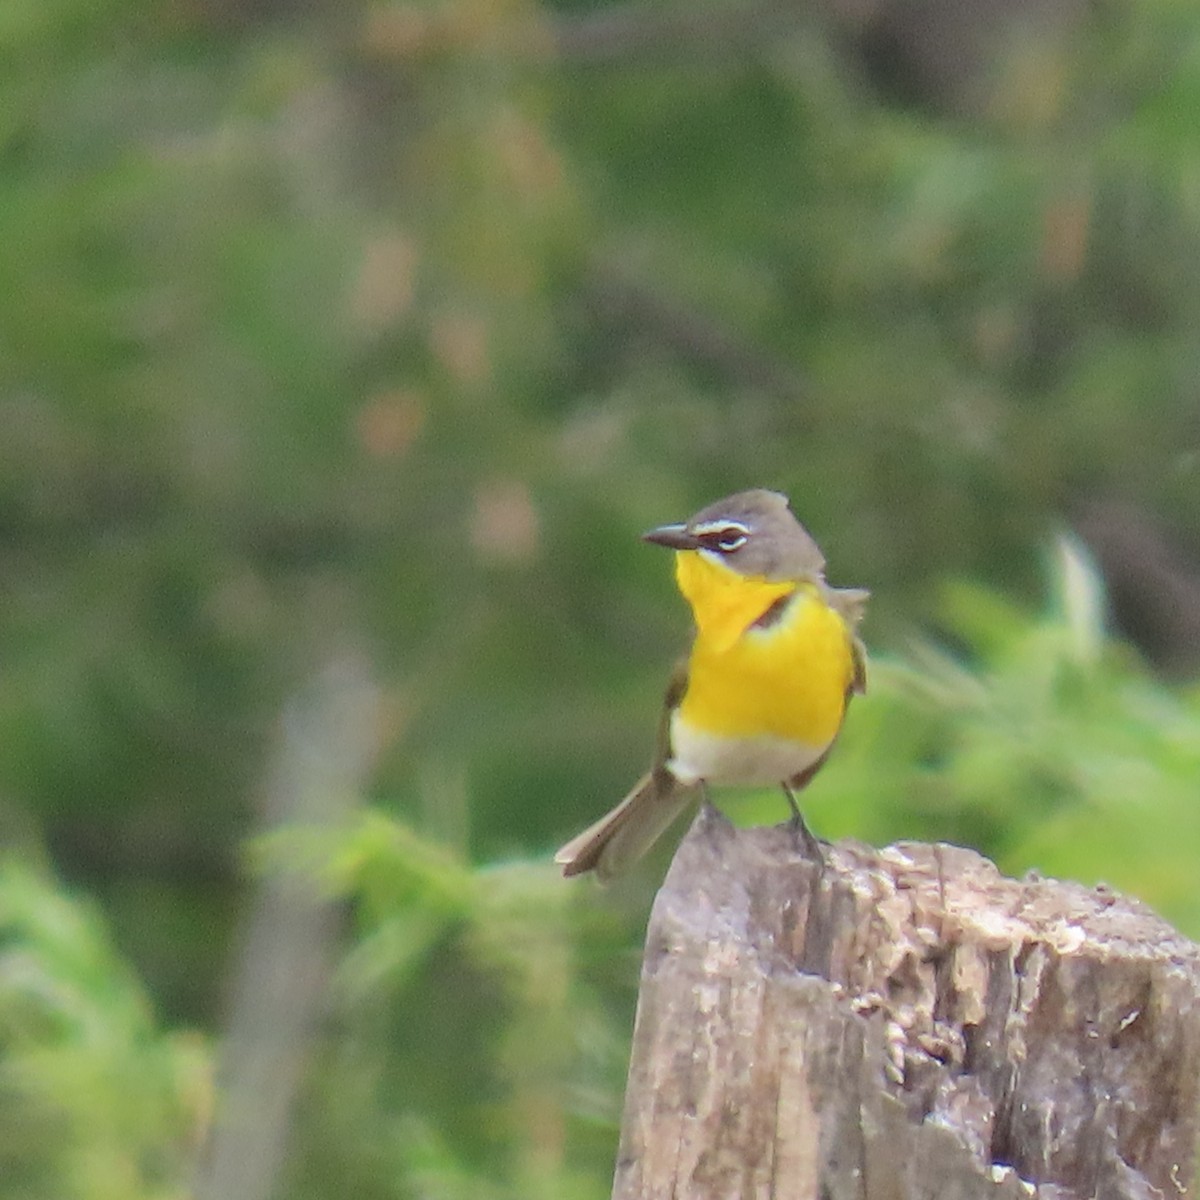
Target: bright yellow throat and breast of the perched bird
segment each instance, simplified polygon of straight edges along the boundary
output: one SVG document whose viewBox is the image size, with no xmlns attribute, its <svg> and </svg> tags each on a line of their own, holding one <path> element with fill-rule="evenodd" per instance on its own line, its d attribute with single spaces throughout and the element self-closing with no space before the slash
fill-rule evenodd
<svg viewBox="0 0 1200 1200">
<path fill-rule="evenodd" d="M 811 582 L 746 578 L 708 556 L 676 557 L 696 642 L 679 716 L 725 738 L 769 736 L 827 746 L 853 679 L 851 632 Z M 790 596 L 778 620 L 755 622 Z"/>
</svg>

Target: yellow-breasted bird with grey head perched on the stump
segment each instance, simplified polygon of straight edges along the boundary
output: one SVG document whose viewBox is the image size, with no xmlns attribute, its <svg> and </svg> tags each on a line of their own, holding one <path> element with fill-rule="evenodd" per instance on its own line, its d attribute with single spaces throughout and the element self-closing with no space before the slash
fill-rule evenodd
<svg viewBox="0 0 1200 1200">
<path fill-rule="evenodd" d="M 677 664 L 650 769 L 554 856 L 564 876 L 629 868 L 708 785 L 782 787 L 809 857 L 821 846 L 796 802 L 833 749 L 851 696 L 866 690 L 858 636 L 868 596 L 834 588 L 824 556 L 780 492 L 716 500 L 643 540 L 674 551 L 695 636 Z"/>
</svg>

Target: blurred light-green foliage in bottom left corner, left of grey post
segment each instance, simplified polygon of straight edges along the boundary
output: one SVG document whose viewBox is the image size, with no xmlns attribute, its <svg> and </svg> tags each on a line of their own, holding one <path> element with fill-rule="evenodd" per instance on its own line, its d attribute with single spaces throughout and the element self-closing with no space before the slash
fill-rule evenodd
<svg viewBox="0 0 1200 1200">
<path fill-rule="evenodd" d="M 188 1194 L 212 1106 L 209 1051 L 155 1021 L 89 904 L 0 864 L 0 1194 Z"/>
</svg>

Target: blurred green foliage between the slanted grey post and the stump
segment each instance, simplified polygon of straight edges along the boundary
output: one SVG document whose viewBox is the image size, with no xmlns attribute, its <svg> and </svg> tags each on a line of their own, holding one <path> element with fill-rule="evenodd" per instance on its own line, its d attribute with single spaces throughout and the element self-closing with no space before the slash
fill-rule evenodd
<svg viewBox="0 0 1200 1200">
<path fill-rule="evenodd" d="M 263 848 L 356 918 L 294 1194 L 330 1170 L 365 1196 L 604 1194 L 624 1058 L 578 954 L 616 949 L 611 918 L 550 864 L 472 868 L 380 812 Z"/>
</svg>

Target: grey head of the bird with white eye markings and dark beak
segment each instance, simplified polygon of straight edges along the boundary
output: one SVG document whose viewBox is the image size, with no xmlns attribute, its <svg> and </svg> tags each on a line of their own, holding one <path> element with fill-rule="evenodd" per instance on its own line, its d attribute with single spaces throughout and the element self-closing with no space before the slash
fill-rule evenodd
<svg viewBox="0 0 1200 1200">
<path fill-rule="evenodd" d="M 700 550 L 742 575 L 767 580 L 823 577 L 824 556 L 792 516 L 787 497 L 755 488 L 709 504 L 682 524 L 643 534 L 672 550 Z"/>
</svg>

